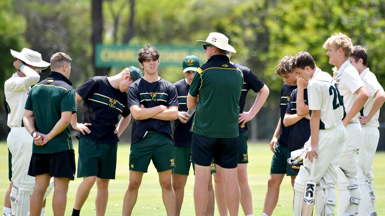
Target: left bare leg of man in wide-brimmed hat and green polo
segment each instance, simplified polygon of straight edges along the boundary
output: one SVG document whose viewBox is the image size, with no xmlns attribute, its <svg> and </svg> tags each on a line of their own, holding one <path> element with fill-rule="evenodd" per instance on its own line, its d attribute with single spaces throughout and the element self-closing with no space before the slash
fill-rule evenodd
<svg viewBox="0 0 385 216">
<path fill-rule="evenodd" d="M 210 166 L 195 164 L 194 204 L 196 216 L 206 216 L 210 175 Z"/>
</svg>

